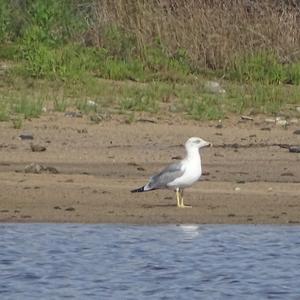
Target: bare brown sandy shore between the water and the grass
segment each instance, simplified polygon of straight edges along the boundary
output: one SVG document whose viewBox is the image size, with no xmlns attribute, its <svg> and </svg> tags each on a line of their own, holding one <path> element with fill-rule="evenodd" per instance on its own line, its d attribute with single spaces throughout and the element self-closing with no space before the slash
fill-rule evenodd
<svg viewBox="0 0 300 300">
<path fill-rule="evenodd" d="M 152 122 L 154 121 L 154 122 Z M 157 120 L 126 124 L 122 116 L 88 118 L 48 114 L 13 129 L 0 123 L 0 221 L 82 223 L 300 223 L 300 135 L 288 128 L 235 118 L 218 122 Z M 30 132 L 33 140 L 20 140 Z M 200 136 L 204 176 L 185 190 L 131 194 L 149 176 L 184 156 L 182 143 Z M 30 143 L 45 146 L 33 152 Z M 31 163 L 46 167 L 25 173 Z"/>
</svg>

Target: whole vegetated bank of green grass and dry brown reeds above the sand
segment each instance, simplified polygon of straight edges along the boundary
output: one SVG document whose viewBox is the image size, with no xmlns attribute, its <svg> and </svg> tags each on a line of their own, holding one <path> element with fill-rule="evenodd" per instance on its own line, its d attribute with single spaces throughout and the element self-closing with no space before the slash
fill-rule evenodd
<svg viewBox="0 0 300 300">
<path fill-rule="evenodd" d="M 292 1 L 0 0 L 0 121 L 45 108 L 293 115 L 299 16 Z"/>
</svg>

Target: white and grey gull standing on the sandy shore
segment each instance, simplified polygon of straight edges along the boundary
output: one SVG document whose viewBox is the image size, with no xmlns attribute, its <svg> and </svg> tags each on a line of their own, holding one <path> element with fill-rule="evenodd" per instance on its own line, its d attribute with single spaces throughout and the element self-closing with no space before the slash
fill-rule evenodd
<svg viewBox="0 0 300 300">
<path fill-rule="evenodd" d="M 148 192 L 157 189 L 174 189 L 177 207 L 191 207 L 183 203 L 183 190 L 195 183 L 202 175 L 199 149 L 211 146 L 209 142 L 191 137 L 185 143 L 186 157 L 180 162 L 171 164 L 156 175 L 153 175 L 144 186 L 131 192 Z"/>
</svg>

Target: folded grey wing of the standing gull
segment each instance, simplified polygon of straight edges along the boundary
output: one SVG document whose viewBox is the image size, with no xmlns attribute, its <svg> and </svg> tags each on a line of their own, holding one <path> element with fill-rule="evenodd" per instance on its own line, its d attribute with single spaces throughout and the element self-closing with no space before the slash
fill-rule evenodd
<svg viewBox="0 0 300 300">
<path fill-rule="evenodd" d="M 172 182 L 178 177 L 181 177 L 184 171 L 185 168 L 182 162 L 171 164 L 163 169 L 160 173 L 152 176 L 147 184 L 147 188 L 149 190 L 165 188 L 167 187 L 168 183 Z"/>
</svg>

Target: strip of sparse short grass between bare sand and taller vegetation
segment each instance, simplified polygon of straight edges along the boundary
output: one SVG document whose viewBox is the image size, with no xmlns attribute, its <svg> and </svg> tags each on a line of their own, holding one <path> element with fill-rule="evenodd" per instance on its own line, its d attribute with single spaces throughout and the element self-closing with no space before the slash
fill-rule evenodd
<svg viewBox="0 0 300 300">
<path fill-rule="evenodd" d="M 188 83 L 136 83 L 97 78 L 65 82 L 11 77 L 0 86 L 0 121 L 39 117 L 44 106 L 59 112 L 77 110 L 90 116 L 106 111 L 122 113 L 132 123 L 137 112 L 163 115 L 168 111 L 201 121 L 249 112 L 283 112 L 288 116 L 295 112 L 291 107 L 300 105 L 300 86 L 296 85 L 222 81 L 226 93 L 213 94 L 207 93 L 204 83 L 203 79 Z"/>
</svg>

